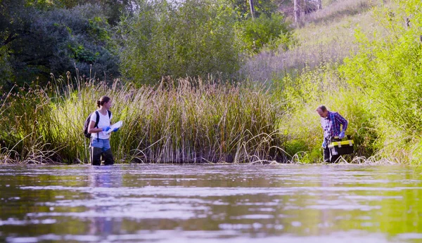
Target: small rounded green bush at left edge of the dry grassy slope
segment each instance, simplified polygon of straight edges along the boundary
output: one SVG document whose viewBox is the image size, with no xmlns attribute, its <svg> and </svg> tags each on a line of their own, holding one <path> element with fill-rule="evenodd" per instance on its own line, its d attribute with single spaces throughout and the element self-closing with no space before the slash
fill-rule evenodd
<svg viewBox="0 0 422 243">
<path fill-rule="evenodd" d="M 282 46 L 284 50 L 293 40 L 291 29 L 284 21 L 283 15 L 274 13 L 268 17 L 266 14 L 259 18 L 252 18 L 241 22 L 241 38 L 247 51 L 259 53 L 264 46 L 275 50 Z"/>
</svg>

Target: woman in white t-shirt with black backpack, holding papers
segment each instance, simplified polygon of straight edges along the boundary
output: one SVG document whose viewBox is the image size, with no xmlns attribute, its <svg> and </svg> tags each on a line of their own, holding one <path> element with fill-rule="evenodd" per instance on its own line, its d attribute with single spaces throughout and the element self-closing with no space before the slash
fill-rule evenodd
<svg viewBox="0 0 422 243">
<path fill-rule="evenodd" d="M 98 110 L 91 114 L 91 121 L 89 121 L 88 132 L 93 133 L 91 136 L 91 164 L 101 165 L 101 157 L 105 165 L 114 164 L 113 154 L 110 147 L 110 120 L 113 115 L 110 112 L 112 101 L 108 96 L 103 96 L 97 100 Z M 97 120 L 97 116 L 99 119 Z M 96 121 L 98 125 L 96 127 Z M 119 129 L 114 129 L 117 131 Z"/>
</svg>

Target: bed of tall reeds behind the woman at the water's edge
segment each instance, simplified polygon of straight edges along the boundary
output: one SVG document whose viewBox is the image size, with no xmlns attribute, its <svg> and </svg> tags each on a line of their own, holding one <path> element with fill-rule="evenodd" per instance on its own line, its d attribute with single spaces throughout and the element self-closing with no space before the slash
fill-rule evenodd
<svg viewBox="0 0 422 243">
<path fill-rule="evenodd" d="M 1 162 L 89 162 L 82 126 L 104 95 L 113 99 L 113 122 L 124 124 L 110 138 L 117 162 L 286 159 L 283 136 L 275 128 L 282 110 L 260 86 L 203 79 L 163 79 L 159 86 L 141 88 L 120 81 L 111 86 L 80 79 L 74 85 L 59 83 L 8 99 L 1 117 L 8 149 L 2 155 L 13 155 Z"/>
</svg>

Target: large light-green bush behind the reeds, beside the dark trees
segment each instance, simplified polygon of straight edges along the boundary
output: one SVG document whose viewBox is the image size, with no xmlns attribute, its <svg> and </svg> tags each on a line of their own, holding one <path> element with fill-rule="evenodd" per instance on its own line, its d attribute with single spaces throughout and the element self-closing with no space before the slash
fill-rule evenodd
<svg viewBox="0 0 422 243">
<path fill-rule="evenodd" d="M 207 74 L 230 77 L 240 65 L 240 47 L 230 8 L 213 1 L 143 2 L 122 20 L 121 70 L 136 82 Z"/>
</svg>

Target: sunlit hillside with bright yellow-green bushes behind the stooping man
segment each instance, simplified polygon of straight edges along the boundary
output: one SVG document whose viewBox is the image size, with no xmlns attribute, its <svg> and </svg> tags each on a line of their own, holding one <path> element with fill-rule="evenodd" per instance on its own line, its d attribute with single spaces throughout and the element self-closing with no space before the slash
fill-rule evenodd
<svg viewBox="0 0 422 243">
<path fill-rule="evenodd" d="M 315 108 L 324 104 L 350 121 L 357 155 L 421 162 L 421 1 L 371 3 L 338 1 L 338 14 L 328 8 L 309 15 L 295 31 L 295 47 L 261 53 L 246 67 L 251 79 L 272 81 L 287 110 L 279 121 L 288 134 L 284 147 L 305 152 L 302 160 L 320 157 Z"/>
</svg>

